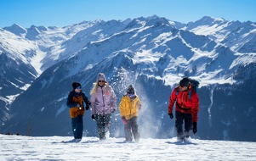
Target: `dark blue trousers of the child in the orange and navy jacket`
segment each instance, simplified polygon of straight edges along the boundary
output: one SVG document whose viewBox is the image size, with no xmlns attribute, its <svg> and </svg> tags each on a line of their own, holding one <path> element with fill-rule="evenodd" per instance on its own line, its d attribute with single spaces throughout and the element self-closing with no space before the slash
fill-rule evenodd
<svg viewBox="0 0 256 161">
<path fill-rule="evenodd" d="M 82 115 L 78 115 L 76 118 L 71 119 L 72 130 L 75 139 L 82 139 Z"/>
</svg>

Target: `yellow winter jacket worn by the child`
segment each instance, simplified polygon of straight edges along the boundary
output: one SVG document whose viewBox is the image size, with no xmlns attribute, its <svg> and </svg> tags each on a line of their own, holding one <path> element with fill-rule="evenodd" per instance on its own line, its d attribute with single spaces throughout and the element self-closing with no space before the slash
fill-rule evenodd
<svg viewBox="0 0 256 161">
<path fill-rule="evenodd" d="M 125 119 L 131 119 L 134 116 L 139 116 L 139 108 L 141 107 L 141 103 L 139 97 L 136 96 L 133 100 L 131 100 L 128 96 L 122 96 L 121 103 L 119 103 L 119 111 L 121 117 L 125 117 Z"/>
</svg>

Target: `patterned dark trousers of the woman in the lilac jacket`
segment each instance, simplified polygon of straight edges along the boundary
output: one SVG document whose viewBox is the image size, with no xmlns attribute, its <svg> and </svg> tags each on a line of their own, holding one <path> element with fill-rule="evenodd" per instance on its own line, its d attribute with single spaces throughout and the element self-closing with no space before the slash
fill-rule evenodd
<svg viewBox="0 0 256 161">
<path fill-rule="evenodd" d="M 105 133 L 110 129 L 111 114 L 96 114 L 95 120 L 99 132 L 100 140 L 105 139 Z"/>
</svg>

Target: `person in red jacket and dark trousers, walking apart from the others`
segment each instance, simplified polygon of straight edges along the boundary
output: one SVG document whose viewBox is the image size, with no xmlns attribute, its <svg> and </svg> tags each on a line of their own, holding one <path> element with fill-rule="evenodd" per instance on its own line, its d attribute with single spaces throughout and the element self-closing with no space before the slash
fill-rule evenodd
<svg viewBox="0 0 256 161">
<path fill-rule="evenodd" d="M 175 127 L 178 140 L 185 140 L 190 136 L 190 130 L 196 134 L 197 131 L 197 113 L 199 111 L 199 97 L 195 90 L 191 88 L 189 78 L 185 77 L 179 81 L 179 86 L 174 88 L 169 104 L 168 115 L 170 119 L 174 118 L 173 108 L 175 105 Z M 183 131 L 183 122 L 185 131 Z"/>
</svg>

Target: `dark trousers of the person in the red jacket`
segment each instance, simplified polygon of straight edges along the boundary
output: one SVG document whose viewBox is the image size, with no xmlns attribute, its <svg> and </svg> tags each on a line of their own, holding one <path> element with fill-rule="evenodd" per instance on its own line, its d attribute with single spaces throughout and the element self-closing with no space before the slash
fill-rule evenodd
<svg viewBox="0 0 256 161">
<path fill-rule="evenodd" d="M 185 134 L 183 134 L 183 120 L 185 122 Z M 184 114 L 175 111 L 175 127 L 178 138 L 189 137 L 192 129 L 192 114 Z"/>
</svg>

